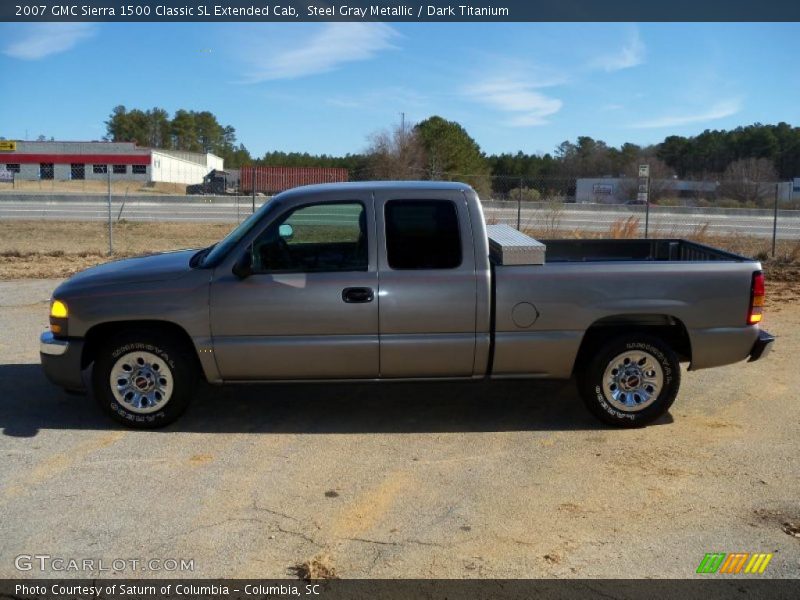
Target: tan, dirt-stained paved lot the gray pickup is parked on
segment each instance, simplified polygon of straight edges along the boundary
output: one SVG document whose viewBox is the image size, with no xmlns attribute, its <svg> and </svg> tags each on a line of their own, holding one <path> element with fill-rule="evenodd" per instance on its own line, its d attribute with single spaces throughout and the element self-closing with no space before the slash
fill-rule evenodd
<svg viewBox="0 0 800 600">
<path fill-rule="evenodd" d="M 524 381 L 207 387 L 158 432 L 44 380 L 56 284 L 0 283 L 0 577 L 33 553 L 193 558 L 193 577 L 684 578 L 707 552 L 768 552 L 765 577 L 800 573 L 797 284 L 769 287 L 772 354 L 684 372 L 644 429 Z"/>
</svg>

